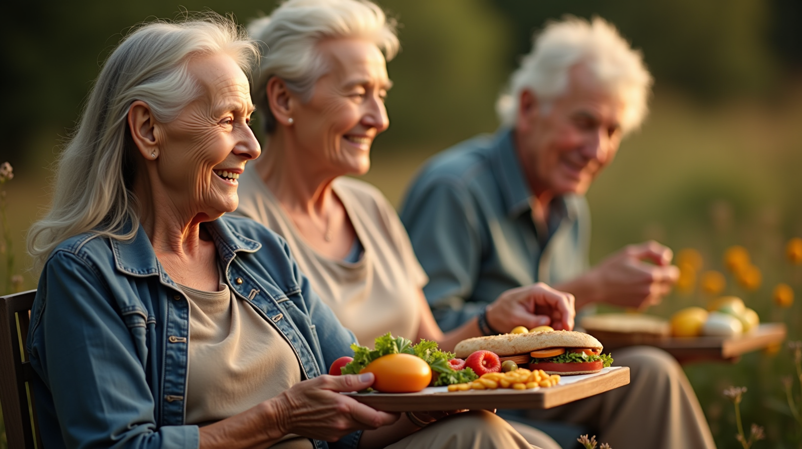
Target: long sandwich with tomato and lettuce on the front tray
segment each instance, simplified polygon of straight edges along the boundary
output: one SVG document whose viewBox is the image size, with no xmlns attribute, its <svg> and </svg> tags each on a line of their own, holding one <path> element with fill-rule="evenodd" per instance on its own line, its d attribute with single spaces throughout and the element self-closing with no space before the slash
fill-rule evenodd
<svg viewBox="0 0 802 449">
<path fill-rule="evenodd" d="M 458 358 L 467 358 L 477 350 L 496 353 L 501 362 L 512 360 L 518 366 L 529 365 L 530 370 L 544 370 L 546 374 L 592 374 L 613 363 L 613 358 L 602 354 L 602 343 L 592 335 L 570 330 L 533 332 L 529 334 L 502 334 L 468 338 L 457 343 Z"/>
</svg>

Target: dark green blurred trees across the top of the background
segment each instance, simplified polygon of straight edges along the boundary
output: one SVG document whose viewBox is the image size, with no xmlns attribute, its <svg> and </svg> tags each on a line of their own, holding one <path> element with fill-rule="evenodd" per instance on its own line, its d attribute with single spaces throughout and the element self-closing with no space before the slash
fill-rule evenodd
<svg viewBox="0 0 802 449">
<path fill-rule="evenodd" d="M 492 104 L 533 30 L 564 14 L 610 19 L 642 48 L 658 88 L 697 99 L 772 93 L 802 62 L 797 0 L 384 0 L 403 24 L 403 52 L 389 65 L 395 88 L 387 148 L 433 148 L 496 127 Z M 10 2 L 0 27 L 6 107 L 0 160 L 42 166 L 68 135 L 107 54 L 131 26 L 180 10 L 236 14 L 272 0 Z"/>
</svg>

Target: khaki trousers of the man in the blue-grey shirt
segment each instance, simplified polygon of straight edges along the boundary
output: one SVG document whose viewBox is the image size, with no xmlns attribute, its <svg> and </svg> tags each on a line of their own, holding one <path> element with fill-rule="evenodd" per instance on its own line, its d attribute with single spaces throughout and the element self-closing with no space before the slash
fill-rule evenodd
<svg viewBox="0 0 802 449">
<path fill-rule="evenodd" d="M 614 365 L 630 367 L 629 385 L 521 416 L 591 427 L 597 441 L 615 449 L 715 449 L 699 400 L 673 357 L 651 346 L 612 355 Z"/>
</svg>

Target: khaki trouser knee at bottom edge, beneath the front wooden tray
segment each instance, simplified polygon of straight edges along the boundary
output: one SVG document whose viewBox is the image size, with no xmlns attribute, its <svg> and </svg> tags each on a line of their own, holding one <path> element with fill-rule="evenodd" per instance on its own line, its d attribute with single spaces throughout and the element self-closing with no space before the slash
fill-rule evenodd
<svg viewBox="0 0 802 449">
<path fill-rule="evenodd" d="M 539 449 L 489 411 L 466 411 L 423 427 L 385 449 Z"/>
</svg>

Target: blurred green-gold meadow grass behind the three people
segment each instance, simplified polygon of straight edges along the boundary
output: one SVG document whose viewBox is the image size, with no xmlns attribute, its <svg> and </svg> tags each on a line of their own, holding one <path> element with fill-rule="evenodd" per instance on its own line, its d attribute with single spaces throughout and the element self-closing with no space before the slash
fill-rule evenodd
<svg viewBox="0 0 802 449">
<path fill-rule="evenodd" d="M 706 269 L 721 269 L 723 249 L 744 245 L 763 270 L 764 284 L 758 292 L 747 294 L 730 282 L 729 291 L 743 295 L 764 322 L 786 322 L 789 337 L 802 338 L 802 271 L 792 270 L 782 256 L 788 237 L 802 236 L 802 208 L 797 199 L 802 192 L 802 127 L 798 126 L 802 102 L 787 104 L 796 106 L 734 103 L 703 108 L 671 92 L 659 92 L 646 125 L 622 144 L 617 160 L 589 192 L 592 261 L 623 245 L 656 238 L 674 249 L 699 249 Z M 382 144 L 379 140 L 371 172 L 364 179 L 397 206 L 415 170 L 442 148 L 406 151 Z M 18 267 L 30 264 L 24 253 L 24 233 L 48 202 L 48 176 L 43 169 L 18 169 L 7 184 Z M 714 222 L 713 209 L 731 213 Z M 36 273 L 22 274 L 24 288 L 35 288 Z M 792 309 L 772 304 L 771 289 L 778 281 L 794 286 Z M 652 312 L 667 317 L 703 301 L 698 293 L 674 293 Z M 747 354 L 735 364 L 686 366 L 686 372 L 718 447 L 739 447 L 733 437 L 734 412 L 721 394 L 730 385 L 749 388 L 742 404 L 744 425 L 766 427 L 767 440 L 755 448 L 800 447 L 802 430 L 788 415 L 780 382 L 782 376 L 792 374 L 787 350 L 775 355 Z"/>
</svg>

